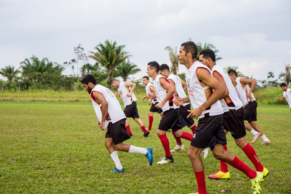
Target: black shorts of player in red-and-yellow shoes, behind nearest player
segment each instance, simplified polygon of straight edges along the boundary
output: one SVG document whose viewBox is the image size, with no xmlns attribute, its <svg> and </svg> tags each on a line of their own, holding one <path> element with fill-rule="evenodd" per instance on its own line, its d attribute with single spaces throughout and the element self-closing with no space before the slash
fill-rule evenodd
<svg viewBox="0 0 291 194">
<path fill-rule="evenodd" d="M 233 138 L 239 139 L 246 136 L 246 129 L 244 127 L 244 108 L 238 110 L 230 109 L 223 113 L 223 129 L 229 131 Z"/>
</svg>

